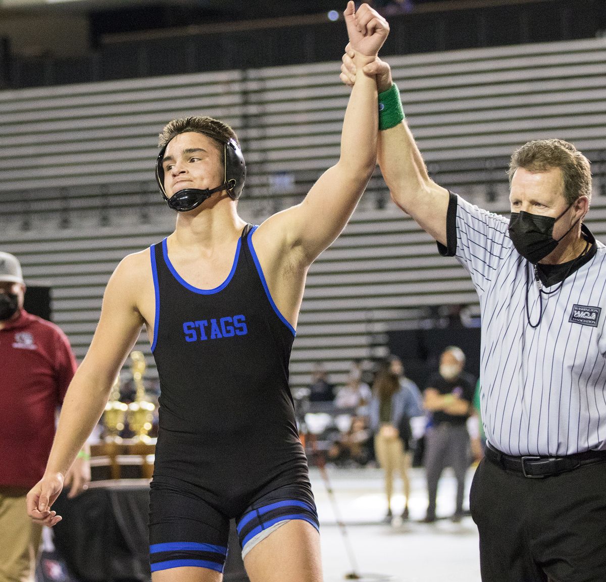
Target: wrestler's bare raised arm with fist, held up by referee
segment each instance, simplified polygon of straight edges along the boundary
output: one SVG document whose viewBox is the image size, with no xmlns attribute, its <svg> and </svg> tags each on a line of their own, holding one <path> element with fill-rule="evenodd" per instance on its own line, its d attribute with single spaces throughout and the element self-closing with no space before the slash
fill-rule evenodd
<svg viewBox="0 0 606 582">
<path fill-rule="evenodd" d="M 389 27 L 367 4 L 355 12 L 350 1 L 344 15 L 353 61 L 362 71 L 374 61 Z M 341 233 L 375 169 L 377 133 L 376 82 L 360 72 L 345 111 L 339 161 L 322 174 L 303 202 L 265 221 L 258 239 L 282 240 L 285 251 L 298 250 L 302 263 L 313 262 Z"/>
</svg>

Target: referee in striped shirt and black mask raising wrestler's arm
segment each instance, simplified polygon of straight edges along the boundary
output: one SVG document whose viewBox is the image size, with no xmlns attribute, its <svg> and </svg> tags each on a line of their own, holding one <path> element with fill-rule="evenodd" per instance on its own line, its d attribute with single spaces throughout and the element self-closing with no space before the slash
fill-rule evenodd
<svg viewBox="0 0 606 582">
<path fill-rule="evenodd" d="M 364 72 L 381 91 L 379 165 L 393 200 L 480 298 L 488 449 L 470 506 L 482 580 L 604 582 L 606 247 L 583 224 L 589 162 L 559 139 L 529 142 L 511 156 L 510 218 L 481 210 L 428 177 L 388 65 Z"/>
</svg>

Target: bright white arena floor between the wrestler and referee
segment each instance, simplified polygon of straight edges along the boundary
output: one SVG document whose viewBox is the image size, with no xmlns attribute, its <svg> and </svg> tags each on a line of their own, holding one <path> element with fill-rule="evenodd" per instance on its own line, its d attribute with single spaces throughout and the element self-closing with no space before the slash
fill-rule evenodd
<svg viewBox="0 0 606 582">
<path fill-rule="evenodd" d="M 359 582 L 480 581 L 475 524 L 471 517 L 465 517 L 461 523 L 452 523 L 448 518 L 454 512 L 456 488 L 450 470 L 445 471 L 438 489 L 438 518 L 444 518 L 434 524 L 418 523 L 427 505 L 422 469 L 411 471 L 410 519 L 392 524 L 382 523 L 386 506 L 378 469 L 329 468 L 327 473 L 357 564 L 352 566 L 348 558 L 322 475 L 317 468 L 311 468 L 321 523 L 325 582 L 346 580 L 351 572 L 360 576 Z M 467 488 L 472 477 L 470 469 Z M 399 481 L 395 491 L 401 491 Z M 400 512 L 404 504 L 402 495 L 396 495 L 392 504 L 394 513 Z"/>
</svg>

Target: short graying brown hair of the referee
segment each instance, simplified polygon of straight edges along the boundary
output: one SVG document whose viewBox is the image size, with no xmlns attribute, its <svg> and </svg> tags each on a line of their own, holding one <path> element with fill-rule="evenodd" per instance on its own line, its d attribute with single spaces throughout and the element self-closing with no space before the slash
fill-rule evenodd
<svg viewBox="0 0 606 582">
<path fill-rule="evenodd" d="M 564 199 L 570 205 L 581 196 L 591 202 L 590 162 L 574 145 L 563 139 L 537 139 L 511 154 L 509 184 L 518 168 L 547 171 L 560 168 L 564 180 Z"/>
</svg>

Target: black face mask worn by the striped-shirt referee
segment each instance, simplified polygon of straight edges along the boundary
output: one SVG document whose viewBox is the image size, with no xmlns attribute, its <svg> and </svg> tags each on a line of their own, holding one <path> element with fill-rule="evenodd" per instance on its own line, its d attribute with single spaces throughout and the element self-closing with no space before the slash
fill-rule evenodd
<svg viewBox="0 0 606 582">
<path fill-rule="evenodd" d="M 572 204 L 560 216 L 541 216 L 541 214 L 532 214 L 524 212 L 512 212 L 509 219 L 509 236 L 516 251 L 522 255 L 528 262 L 538 263 L 541 259 L 547 257 L 558 243 L 573 230 L 576 222 L 559 239 L 553 238 L 553 227 L 564 214 L 572 208 Z"/>
</svg>

